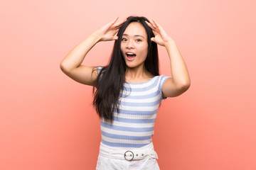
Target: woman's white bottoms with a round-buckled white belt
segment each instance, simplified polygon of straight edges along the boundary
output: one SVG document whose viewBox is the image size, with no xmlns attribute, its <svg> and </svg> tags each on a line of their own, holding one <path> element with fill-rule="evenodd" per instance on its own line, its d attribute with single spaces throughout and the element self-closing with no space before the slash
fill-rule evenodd
<svg viewBox="0 0 256 170">
<path fill-rule="evenodd" d="M 114 149 L 100 142 L 96 170 L 159 170 L 153 143 L 138 149 Z"/>
</svg>

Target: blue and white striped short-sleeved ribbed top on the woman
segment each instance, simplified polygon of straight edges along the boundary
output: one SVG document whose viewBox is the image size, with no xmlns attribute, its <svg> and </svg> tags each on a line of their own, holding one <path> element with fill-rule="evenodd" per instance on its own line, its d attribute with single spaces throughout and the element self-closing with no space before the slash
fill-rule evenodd
<svg viewBox="0 0 256 170">
<path fill-rule="evenodd" d="M 156 113 L 163 99 L 161 87 L 166 79 L 169 77 L 161 75 L 139 84 L 124 83 L 119 113 L 114 109 L 112 124 L 103 118 L 100 120 L 103 144 L 132 149 L 151 142 Z"/>
</svg>

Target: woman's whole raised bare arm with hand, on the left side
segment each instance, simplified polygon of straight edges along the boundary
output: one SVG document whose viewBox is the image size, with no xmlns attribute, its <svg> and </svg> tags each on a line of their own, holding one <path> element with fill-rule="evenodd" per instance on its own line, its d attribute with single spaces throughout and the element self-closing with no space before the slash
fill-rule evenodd
<svg viewBox="0 0 256 170">
<path fill-rule="evenodd" d="M 94 67 L 88 67 L 82 65 L 82 61 L 85 59 L 87 52 L 100 41 L 117 40 L 116 33 L 118 32 L 122 23 L 117 23 L 117 19 L 107 23 L 99 30 L 92 33 L 88 38 L 76 45 L 73 50 L 68 52 L 68 55 L 60 62 L 60 69 L 71 79 L 80 82 L 81 84 L 87 84 L 93 86 L 97 79 L 97 72 L 92 72 Z"/>
</svg>

